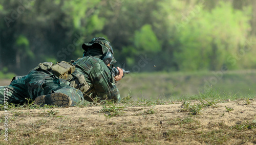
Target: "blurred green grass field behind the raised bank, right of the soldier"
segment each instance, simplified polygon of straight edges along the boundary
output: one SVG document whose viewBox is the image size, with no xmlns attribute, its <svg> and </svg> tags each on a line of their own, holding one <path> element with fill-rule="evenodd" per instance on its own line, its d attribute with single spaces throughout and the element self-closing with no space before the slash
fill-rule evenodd
<svg viewBox="0 0 256 145">
<path fill-rule="evenodd" d="M 117 83 L 121 96 L 154 100 L 193 100 L 211 95 L 213 98 L 237 100 L 250 99 L 256 95 L 256 72 L 198 71 L 154 72 L 125 75 Z M 211 91 L 211 92 L 210 92 Z"/>
</svg>

